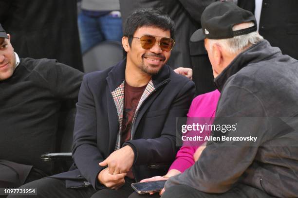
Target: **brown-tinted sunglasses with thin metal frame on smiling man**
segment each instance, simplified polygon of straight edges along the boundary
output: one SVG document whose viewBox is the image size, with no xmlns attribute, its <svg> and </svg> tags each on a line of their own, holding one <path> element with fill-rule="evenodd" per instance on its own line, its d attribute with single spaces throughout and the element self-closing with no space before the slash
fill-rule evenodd
<svg viewBox="0 0 298 198">
<path fill-rule="evenodd" d="M 133 37 L 133 38 L 139 38 L 139 37 Z M 172 50 L 175 41 L 172 38 L 162 37 L 161 39 L 156 39 L 155 36 L 151 35 L 143 35 L 140 38 L 141 46 L 145 50 L 151 49 L 156 41 L 158 42 L 158 45 L 160 46 L 160 49 L 164 52 L 169 52 Z"/>
</svg>

